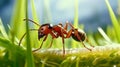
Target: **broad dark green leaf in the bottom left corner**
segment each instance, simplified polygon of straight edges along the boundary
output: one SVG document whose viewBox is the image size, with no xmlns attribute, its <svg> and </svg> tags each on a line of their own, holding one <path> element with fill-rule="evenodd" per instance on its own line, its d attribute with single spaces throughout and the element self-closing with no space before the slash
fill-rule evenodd
<svg viewBox="0 0 120 67">
<path fill-rule="evenodd" d="M 11 43 L 9 40 L 2 37 L 0 37 L 0 47 L 5 48 L 5 50 L 3 51 L 4 60 L 2 61 L 4 66 L 1 66 L 2 64 L 0 62 L 1 67 L 23 67 L 24 66 L 26 51 L 23 48 L 17 45 L 13 45 L 13 43 Z M 8 53 L 7 57 L 6 57 L 6 53 Z M 9 64 L 11 64 L 11 66 Z"/>
</svg>

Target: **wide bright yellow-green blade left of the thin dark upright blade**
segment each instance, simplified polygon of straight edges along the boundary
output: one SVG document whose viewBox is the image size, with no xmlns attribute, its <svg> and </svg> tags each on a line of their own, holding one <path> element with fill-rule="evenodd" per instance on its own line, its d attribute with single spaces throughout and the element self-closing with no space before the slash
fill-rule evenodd
<svg viewBox="0 0 120 67">
<path fill-rule="evenodd" d="M 16 0 L 15 7 L 13 11 L 13 17 L 11 18 L 11 39 L 12 42 L 15 41 L 15 37 L 21 38 L 21 36 L 25 33 L 25 22 L 23 19 L 25 18 L 25 0 Z"/>
</svg>

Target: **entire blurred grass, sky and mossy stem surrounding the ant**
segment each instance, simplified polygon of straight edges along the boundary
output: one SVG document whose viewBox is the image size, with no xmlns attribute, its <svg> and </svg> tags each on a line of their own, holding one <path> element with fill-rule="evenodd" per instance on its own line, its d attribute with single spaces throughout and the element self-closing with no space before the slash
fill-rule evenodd
<svg viewBox="0 0 120 67">
<path fill-rule="evenodd" d="M 0 0 L 0 67 L 119 67 L 120 66 L 120 0 Z M 53 25 L 69 21 L 84 30 L 88 51 L 80 42 L 65 39 L 63 57 L 61 38 L 48 49 L 48 36 L 38 40 L 39 27 L 23 19 Z M 26 23 L 25 23 L 26 22 Z M 21 46 L 18 43 L 24 33 Z"/>
</svg>

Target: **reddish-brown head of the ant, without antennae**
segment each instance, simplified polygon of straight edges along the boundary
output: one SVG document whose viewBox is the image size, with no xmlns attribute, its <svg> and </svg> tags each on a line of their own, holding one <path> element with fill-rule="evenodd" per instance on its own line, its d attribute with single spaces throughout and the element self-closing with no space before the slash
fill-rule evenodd
<svg viewBox="0 0 120 67">
<path fill-rule="evenodd" d="M 38 29 L 38 39 L 40 40 L 40 38 L 49 34 L 50 31 L 52 30 L 52 27 L 53 25 L 49 23 L 41 25 L 40 28 Z"/>
</svg>

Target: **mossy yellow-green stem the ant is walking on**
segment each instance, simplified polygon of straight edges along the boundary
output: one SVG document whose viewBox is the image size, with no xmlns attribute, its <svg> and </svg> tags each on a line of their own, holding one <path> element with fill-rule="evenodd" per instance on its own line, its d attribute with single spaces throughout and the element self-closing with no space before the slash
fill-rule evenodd
<svg viewBox="0 0 120 67">
<path fill-rule="evenodd" d="M 115 45 L 115 44 L 114 44 Z M 33 53 L 38 67 L 119 67 L 120 46 L 99 46 L 88 51 L 85 48 L 62 50 L 47 49 Z"/>
</svg>

